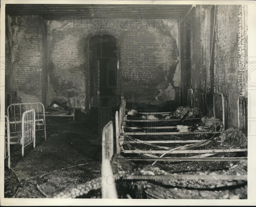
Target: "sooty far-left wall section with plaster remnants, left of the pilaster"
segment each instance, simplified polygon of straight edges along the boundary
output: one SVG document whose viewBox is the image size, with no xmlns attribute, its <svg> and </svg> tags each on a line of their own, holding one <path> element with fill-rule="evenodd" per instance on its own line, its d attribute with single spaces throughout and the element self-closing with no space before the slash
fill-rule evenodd
<svg viewBox="0 0 256 207">
<path fill-rule="evenodd" d="M 15 101 L 46 104 L 47 65 L 42 19 L 39 16 L 7 16 L 6 22 L 6 60 L 10 65 L 7 71 L 12 77 L 10 89 L 17 91 Z"/>
</svg>

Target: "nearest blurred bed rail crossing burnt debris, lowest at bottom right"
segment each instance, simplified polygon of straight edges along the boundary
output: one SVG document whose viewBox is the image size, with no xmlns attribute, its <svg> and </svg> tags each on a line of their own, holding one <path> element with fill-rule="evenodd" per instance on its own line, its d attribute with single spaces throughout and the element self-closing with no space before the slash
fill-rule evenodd
<svg viewBox="0 0 256 207">
<path fill-rule="evenodd" d="M 247 180 L 247 175 L 127 175 L 124 180 Z"/>
</svg>

